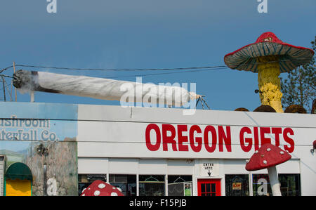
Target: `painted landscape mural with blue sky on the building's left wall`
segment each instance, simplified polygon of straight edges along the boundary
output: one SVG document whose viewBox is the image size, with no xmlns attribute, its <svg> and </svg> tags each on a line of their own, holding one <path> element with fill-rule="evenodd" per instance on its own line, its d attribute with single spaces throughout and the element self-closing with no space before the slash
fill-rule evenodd
<svg viewBox="0 0 316 210">
<path fill-rule="evenodd" d="M 0 155 L 6 169 L 32 171 L 32 195 L 78 195 L 77 105 L 0 103 Z"/>
</svg>

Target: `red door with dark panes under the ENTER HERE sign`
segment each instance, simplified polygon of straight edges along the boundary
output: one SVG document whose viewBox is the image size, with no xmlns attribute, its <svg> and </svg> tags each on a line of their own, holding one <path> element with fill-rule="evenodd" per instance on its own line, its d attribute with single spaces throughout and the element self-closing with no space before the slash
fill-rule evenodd
<svg viewBox="0 0 316 210">
<path fill-rule="evenodd" d="M 197 180 L 198 196 L 220 196 L 220 179 L 206 178 Z"/>
</svg>

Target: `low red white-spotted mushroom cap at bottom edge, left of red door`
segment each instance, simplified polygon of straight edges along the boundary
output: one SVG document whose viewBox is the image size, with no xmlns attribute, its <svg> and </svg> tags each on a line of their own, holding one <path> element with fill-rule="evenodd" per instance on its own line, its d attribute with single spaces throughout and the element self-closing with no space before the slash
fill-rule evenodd
<svg viewBox="0 0 316 210">
<path fill-rule="evenodd" d="M 104 181 L 96 180 L 88 185 L 88 188 L 82 190 L 81 196 L 124 196 L 124 194 L 121 193 L 121 189 Z"/>
</svg>

